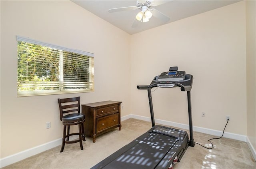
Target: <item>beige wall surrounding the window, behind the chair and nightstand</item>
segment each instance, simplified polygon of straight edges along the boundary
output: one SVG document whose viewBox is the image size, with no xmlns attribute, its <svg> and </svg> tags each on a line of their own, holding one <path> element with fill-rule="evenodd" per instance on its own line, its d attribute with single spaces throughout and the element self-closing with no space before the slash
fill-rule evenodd
<svg viewBox="0 0 256 169">
<path fill-rule="evenodd" d="M 17 97 L 16 35 L 94 53 L 95 92 Z M 123 101 L 130 114 L 129 46 L 129 34 L 73 2 L 1 1 L 1 158 L 62 137 L 57 98 Z"/>
</svg>

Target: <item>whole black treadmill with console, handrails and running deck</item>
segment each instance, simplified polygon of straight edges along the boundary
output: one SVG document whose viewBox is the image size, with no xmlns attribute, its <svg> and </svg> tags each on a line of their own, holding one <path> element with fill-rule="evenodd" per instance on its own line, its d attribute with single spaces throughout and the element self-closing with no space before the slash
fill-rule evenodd
<svg viewBox="0 0 256 169">
<path fill-rule="evenodd" d="M 188 146 L 194 147 L 190 90 L 193 76 L 178 67 L 156 76 L 150 85 L 137 85 L 148 91 L 152 128 L 125 145 L 91 169 L 172 169 L 180 162 Z M 154 87 L 180 87 L 187 91 L 190 140 L 186 131 L 155 125 L 151 89 Z"/>
</svg>

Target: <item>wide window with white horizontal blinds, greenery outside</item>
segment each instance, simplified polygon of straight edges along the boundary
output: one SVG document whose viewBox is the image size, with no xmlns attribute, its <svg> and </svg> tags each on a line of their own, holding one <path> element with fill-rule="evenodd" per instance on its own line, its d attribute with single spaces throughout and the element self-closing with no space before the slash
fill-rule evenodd
<svg viewBox="0 0 256 169">
<path fill-rule="evenodd" d="M 18 96 L 94 91 L 94 54 L 17 36 Z"/>
</svg>

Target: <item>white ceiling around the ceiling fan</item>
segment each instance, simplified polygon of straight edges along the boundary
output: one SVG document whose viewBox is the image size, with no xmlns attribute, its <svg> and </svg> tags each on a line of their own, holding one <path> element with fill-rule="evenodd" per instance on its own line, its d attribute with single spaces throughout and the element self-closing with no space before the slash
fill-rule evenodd
<svg viewBox="0 0 256 169">
<path fill-rule="evenodd" d="M 194 16 L 209 10 L 220 8 L 240 0 L 154 0 L 162 3 L 154 8 L 170 18 L 168 22 L 152 16 L 149 22 L 138 22 L 136 28 L 132 28 L 135 16 L 139 9 L 122 12 L 109 13 L 111 8 L 121 8 L 136 6 L 136 0 L 72 0 L 82 8 L 92 12 L 96 16 L 106 20 L 110 24 L 124 30 L 128 34 L 136 34 L 144 30 L 155 28 L 160 25 L 168 24 L 176 20 Z"/>
</svg>

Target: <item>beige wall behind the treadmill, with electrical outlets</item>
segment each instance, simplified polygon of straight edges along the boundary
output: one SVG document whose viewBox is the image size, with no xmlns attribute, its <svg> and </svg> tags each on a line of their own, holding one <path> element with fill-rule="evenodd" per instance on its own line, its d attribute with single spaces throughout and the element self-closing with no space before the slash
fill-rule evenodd
<svg viewBox="0 0 256 169">
<path fill-rule="evenodd" d="M 238 2 L 132 35 L 133 113 L 150 117 L 147 92 L 136 85 L 178 66 L 194 76 L 193 125 L 222 131 L 230 115 L 226 132 L 246 135 L 245 18 Z M 188 124 L 186 92 L 158 88 L 152 99 L 155 118 Z"/>
</svg>

